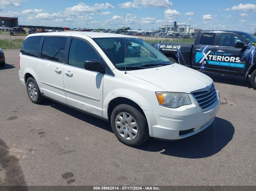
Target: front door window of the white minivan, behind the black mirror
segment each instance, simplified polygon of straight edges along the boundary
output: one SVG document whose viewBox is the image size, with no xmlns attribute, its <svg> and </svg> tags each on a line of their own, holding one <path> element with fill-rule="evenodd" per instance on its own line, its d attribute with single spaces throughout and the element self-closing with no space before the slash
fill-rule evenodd
<svg viewBox="0 0 256 191">
<path fill-rule="evenodd" d="M 68 64 L 84 68 L 85 60 L 96 59 L 100 61 L 100 56 L 95 50 L 85 41 L 72 39 L 70 52 L 68 57 Z"/>
</svg>

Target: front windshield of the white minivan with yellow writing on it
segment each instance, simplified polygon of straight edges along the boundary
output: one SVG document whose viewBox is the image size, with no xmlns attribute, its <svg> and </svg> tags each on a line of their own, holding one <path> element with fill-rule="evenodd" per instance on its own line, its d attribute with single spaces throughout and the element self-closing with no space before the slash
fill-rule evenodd
<svg viewBox="0 0 256 191">
<path fill-rule="evenodd" d="M 93 40 L 119 70 L 138 70 L 172 64 L 160 51 L 140 38 L 109 37 Z"/>
</svg>

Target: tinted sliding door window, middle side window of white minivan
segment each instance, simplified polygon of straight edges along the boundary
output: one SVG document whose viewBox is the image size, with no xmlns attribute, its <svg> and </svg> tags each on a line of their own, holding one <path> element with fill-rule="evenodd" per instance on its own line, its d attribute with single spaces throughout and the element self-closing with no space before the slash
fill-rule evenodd
<svg viewBox="0 0 256 191">
<path fill-rule="evenodd" d="M 45 37 L 41 58 L 64 62 L 66 41 L 66 37 Z"/>
</svg>

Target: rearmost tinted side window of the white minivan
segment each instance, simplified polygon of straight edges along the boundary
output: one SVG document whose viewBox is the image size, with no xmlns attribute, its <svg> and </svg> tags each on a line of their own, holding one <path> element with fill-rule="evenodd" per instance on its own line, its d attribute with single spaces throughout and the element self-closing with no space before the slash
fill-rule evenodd
<svg viewBox="0 0 256 191">
<path fill-rule="evenodd" d="M 36 56 L 38 55 L 38 46 L 40 43 L 42 36 L 34 36 L 34 37 L 28 37 L 23 42 L 22 47 L 20 49 L 20 52 L 22 54 L 28 55 L 28 56 Z"/>
</svg>

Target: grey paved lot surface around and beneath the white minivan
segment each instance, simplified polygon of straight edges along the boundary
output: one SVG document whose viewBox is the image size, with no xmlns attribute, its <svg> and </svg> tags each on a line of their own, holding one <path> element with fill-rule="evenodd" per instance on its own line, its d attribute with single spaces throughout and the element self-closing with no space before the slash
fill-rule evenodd
<svg viewBox="0 0 256 191">
<path fill-rule="evenodd" d="M 5 51 L 0 68 L 0 185 L 255 185 L 256 90 L 244 78 L 207 73 L 221 107 L 204 131 L 131 148 L 105 121 L 33 104 L 18 55 Z"/>
</svg>

